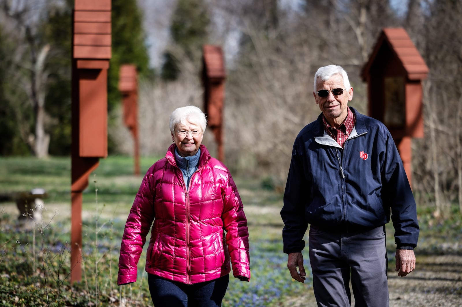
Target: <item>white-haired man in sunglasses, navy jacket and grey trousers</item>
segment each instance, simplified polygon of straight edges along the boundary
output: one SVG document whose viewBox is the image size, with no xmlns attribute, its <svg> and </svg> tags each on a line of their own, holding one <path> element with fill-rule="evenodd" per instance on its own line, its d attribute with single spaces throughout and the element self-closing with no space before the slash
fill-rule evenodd
<svg viewBox="0 0 462 307">
<path fill-rule="evenodd" d="M 346 71 L 318 69 L 314 97 L 322 113 L 295 139 L 284 193 L 284 253 L 292 278 L 303 283 L 308 238 L 318 306 L 388 306 L 385 224 L 395 228 L 396 268 L 415 270 L 419 225 L 400 155 L 381 122 L 360 114 Z M 297 271 L 297 267 L 299 272 Z"/>
</svg>

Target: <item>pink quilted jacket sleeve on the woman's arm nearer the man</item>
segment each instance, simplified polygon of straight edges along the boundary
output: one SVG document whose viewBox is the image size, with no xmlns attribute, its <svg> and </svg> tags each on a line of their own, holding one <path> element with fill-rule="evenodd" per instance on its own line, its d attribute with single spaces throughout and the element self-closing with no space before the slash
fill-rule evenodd
<svg viewBox="0 0 462 307">
<path fill-rule="evenodd" d="M 241 197 L 236 184 L 228 173 L 228 181 L 223 191 L 224 208 L 221 218 L 226 231 L 226 243 L 231 258 L 234 277 L 250 279 L 249 230 Z M 241 279 L 242 280 L 242 279 Z"/>
</svg>

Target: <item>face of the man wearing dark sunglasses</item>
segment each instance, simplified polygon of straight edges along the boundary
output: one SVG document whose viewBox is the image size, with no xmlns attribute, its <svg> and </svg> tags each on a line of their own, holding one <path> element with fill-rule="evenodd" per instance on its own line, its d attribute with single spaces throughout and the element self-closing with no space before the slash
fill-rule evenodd
<svg viewBox="0 0 462 307">
<path fill-rule="evenodd" d="M 329 92 L 326 97 L 319 97 L 317 92 L 327 89 L 332 91 L 333 89 L 344 89 L 343 94 L 334 95 Z M 334 75 L 327 81 L 322 81 L 320 78 L 316 81 L 316 92 L 313 92 L 316 100 L 316 104 L 319 105 L 324 117 L 327 122 L 334 127 L 338 127 L 348 114 L 347 105 L 348 100 L 353 99 L 353 88 L 345 89 L 343 85 L 343 78 L 340 75 Z"/>
</svg>

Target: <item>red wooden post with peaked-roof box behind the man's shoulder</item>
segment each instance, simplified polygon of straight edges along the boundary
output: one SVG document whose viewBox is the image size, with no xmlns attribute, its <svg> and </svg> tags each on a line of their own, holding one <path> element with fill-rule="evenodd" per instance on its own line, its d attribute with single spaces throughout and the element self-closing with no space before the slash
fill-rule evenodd
<svg viewBox="0 0 462 307">
<path fill-rule="evenodd" d="M 422 80 L 427 74 L 424 59 L 402 28 L 383 29 L 362 71 L 369 115 L 390 130 L 411 186 L 411 143 L 424 136 Z"/>
</svg>

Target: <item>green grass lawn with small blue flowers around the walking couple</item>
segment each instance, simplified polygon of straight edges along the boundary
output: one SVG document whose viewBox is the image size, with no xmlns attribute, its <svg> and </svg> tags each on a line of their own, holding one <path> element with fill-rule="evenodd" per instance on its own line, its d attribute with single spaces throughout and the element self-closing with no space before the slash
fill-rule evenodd
<svg viewBox="0 0 462 307">
<path fill-rule="evenodd" d="M 141 158 L 141 173 L 157 159 Z M 122 287 L 115 284 L 125 220 L 143 177 L 133 175 L 133 160 L 129 157 L 100 159 L 100 165 L 90 176 L 83 193 L 83 278 L 71 289 L 67 275 L 70 271 L 67 245 L 71 219 L 70 167 L 69 158 L 0 157 L 0 195 L 32 188 L 43 188 L 48 194 L 46 211 L 42 213 L 44 223 L 38 225 L 19 225 L 15 203 L 0 202 L 0 305 L 88 306 L 91 302 L 119 306 L 125 302 L 128 306 L 151 306 L 144 271 L 147 244 L 140 258 L 137 283 Z M 308 251 L 304 250 L 307 281 L 297 283 L 290 277 L 287 255 L 282 253 L 283 224 L 279 214 L 282 195 L 263 188 L 260 178 L 234 179 L 248 219 L 252 277 L 249 283 L 231 278 L 223 306 L 286 306 L 289 298 L 312 291 Z M 450 217 L 442 219 L 432 216 L 432 208 L 419 207 L 419 221 L 418 252 L 460 253 L 457 244 L 462 241 L 462 224 L 456 209 Z M 387 250 L 392 267 L 393 232 L 390 223 Z"/>
</svg>

